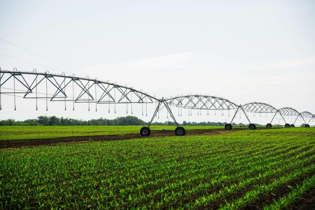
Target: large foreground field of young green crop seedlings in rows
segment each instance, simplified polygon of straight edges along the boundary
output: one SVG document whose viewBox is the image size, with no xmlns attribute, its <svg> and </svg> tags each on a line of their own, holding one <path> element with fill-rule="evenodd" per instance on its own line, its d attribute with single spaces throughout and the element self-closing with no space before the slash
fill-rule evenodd
<svg viewBox="0 0 315 210">
<path fill-rule="evenodd" d="M 3 149 L 0 168 L 2 209 L 294 209 L 314 195 L 315 128 Z"/>
</svg>

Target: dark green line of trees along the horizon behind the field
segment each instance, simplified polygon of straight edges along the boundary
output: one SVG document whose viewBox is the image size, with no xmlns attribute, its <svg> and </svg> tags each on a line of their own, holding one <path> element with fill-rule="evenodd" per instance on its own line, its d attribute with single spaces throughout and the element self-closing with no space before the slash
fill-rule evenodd
<svg viewBox="0 0 315 210">
<path fill-rule="evenodd" d="M 39 116 L 37 119 L 28 119 L 24 121 L 15 121 L 14 119 L 1 120 L 0 126 L 67 126 L 67 125 L 147 125 L 148 122 L 145 122 L 135 116 L 126 116 L 126 117 L 117 117 L 116 119 L 92 119 L 92 120 L 78 120 L 73 118 L 63 118 L 56 116 Z M 184 121 L 180 125 L 182 126 L 224 126 L 226 122 L 186 122 Z M 166 121 L 166 122 L 153 122 L 152 125 L 175 125 L 175 122 Z M 243 123 L 235 124 L 232 123 L 232 126 L 243 125 Z M 257 125 L 256 126 L 260 126 Z"/>
</svg>

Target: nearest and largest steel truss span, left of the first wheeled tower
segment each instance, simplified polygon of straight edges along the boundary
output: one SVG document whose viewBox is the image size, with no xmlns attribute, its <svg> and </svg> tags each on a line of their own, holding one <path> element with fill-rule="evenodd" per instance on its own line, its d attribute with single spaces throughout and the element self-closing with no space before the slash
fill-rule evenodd
<svg viewBox="0 0 315 210">
<path fill-rule="evenodd" d="M 70 101 L 73 102 L 71 107 L 73 110 L 74 103 L 89 103 L 89 107 L 95 105 L 97 111 L 98 104 L 146 104 L 158 100 L 154 96 L 143 93 L 142 90 L 118 85 L 116 82 L 110 83 L 108 80 L 104 82 L 88 76 L 76 77 L 74 74 L 66 76 L 64 73 L 61 75 L 50 74 L 48 71 L 42 73 L 36 72 L 35 69 L 33 72 L 1 70 L 0 82 L 1 94 L 13 94 L 14 101 L 15 97 L 21 96 L 36 100 L 63 101 L 65 109 L 67 109 L 66 102 Z M 7 84 L 9 86 L 6 86 Z M 132 105 L 130 108 L 132 112 Z M 14 109 L 16 109 L 15 104 Z M 48 111 L 48 106 L 46 110 Z"/>
</svg>

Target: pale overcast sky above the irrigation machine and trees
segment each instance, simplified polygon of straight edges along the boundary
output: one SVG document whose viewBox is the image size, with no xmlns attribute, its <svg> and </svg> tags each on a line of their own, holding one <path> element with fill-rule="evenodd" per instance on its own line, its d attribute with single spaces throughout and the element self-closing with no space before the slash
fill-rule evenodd
<svg viewBox="0 0 315 210">
<path fill-rule="evenodd" d="M 98 77 L 161 98 L 210 94 L 315 113 L 315 1 L 0 1 L 2 70 Z M 84 72 L 84 73 L 83 73 Z M 125 112 L 35 111 L 2 101 L 0 119 L 91 119 Z M 24 101 L 23 101 L 24 100 Z M 58 105 L 51 106 L 58 107 Z M 62 107 L 62 106 L 61 106 Z M 141 106 L 139 106 L 139 109 Z M 151 114 L 150 114 L 151 115 Z M 149 116 L 135 115 L 149 121 Z M 159 119 L 160 121 L 166 118 Z M 223 121 L 219 116 L 179 121 Z M 225 119 L 224 119 L 225 120 Z M 244 121 L 245 122 L 245 121 Z"/>
</svg>

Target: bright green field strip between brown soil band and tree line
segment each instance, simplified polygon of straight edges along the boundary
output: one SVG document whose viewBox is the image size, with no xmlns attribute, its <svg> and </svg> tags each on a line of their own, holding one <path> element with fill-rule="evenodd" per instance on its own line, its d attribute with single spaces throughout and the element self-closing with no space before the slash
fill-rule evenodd
<svg viewBox="0 0 315 210">
<path fill-rule="evenodd" d="M 120 135 L 139 133 L 143 126 L 0 126 L 0 140 L 50 139 L 70 136 Z M 175 126 L 151 126 L 175 129 Z M 185 126 L 185 129 L 215 129 L 220 126 Z"/>
</svg>

